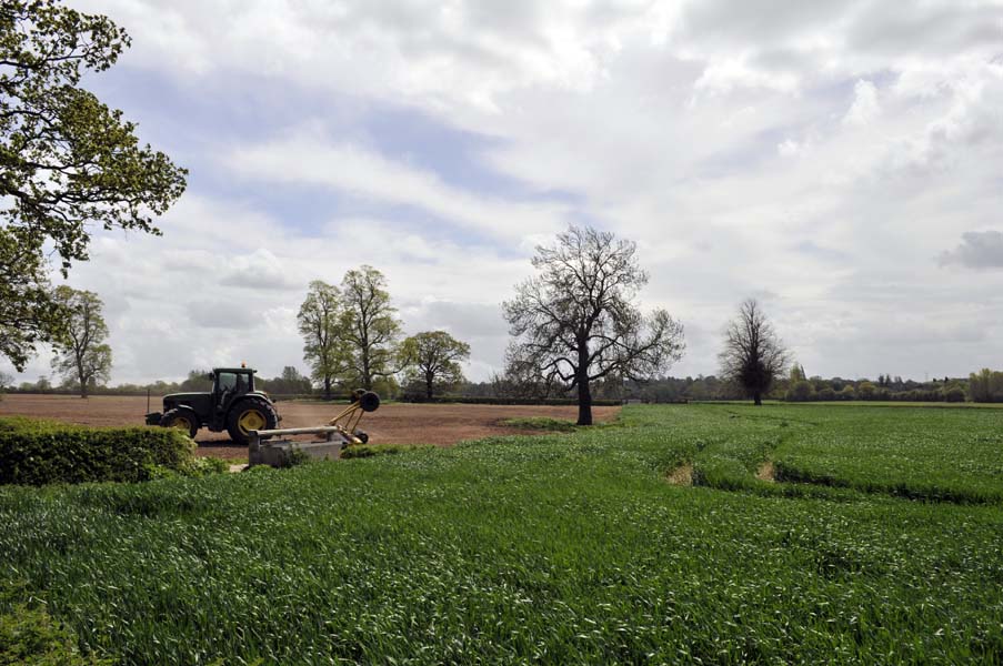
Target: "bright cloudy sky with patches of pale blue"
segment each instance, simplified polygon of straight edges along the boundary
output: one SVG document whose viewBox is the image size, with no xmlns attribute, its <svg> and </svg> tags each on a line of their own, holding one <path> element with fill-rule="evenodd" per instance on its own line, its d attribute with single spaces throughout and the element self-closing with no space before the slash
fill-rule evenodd
<svg viewBox="0 0 1003 666">
<path fill-rule="evenodd" d="M 809 375 L 1003 369 L 999 1 L 69 4 L 132 38 L 84 85 L 190 170 L 161 238 L 96 232 L 68 280 L 112 383 L 305 371 L 309 282 L 363 263 L 487 380 L 569 224 L 636 242 L 675 376 L 750 296 Z"/>
</svg>

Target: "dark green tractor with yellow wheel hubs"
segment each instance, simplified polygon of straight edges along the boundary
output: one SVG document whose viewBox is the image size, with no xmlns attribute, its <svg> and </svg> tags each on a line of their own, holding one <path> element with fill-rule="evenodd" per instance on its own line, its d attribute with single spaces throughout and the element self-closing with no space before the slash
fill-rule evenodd
<svg viewBox="0 0 1003 666">
<path fill-rule="evenodd" d="M 209 373 L 209 393 L 171 393 L 163 396 L 163 413 L 147 414 L 147 425 L 178 427 L 194 438 L 200 427 L 214 433 L 227 431 L 230 438 L 247 446 L 251 431 L 274 430 L 280 416 L 263 391 L 254 390 L 255 370 L 215 367 Z"/>
</svg>

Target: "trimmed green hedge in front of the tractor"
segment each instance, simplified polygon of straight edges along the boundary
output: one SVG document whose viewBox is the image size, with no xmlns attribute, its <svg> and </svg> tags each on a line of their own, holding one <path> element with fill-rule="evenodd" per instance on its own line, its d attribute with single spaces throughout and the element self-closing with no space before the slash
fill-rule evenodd
<svg viewBox="0 0 1003 666">
<path fill-rule="evenodd" d="M 164 470 L 187 472 L 194 442 L 175 428 L 98 428 L 0 418 L 0 484 L 148 481 Z"/>
</svg>

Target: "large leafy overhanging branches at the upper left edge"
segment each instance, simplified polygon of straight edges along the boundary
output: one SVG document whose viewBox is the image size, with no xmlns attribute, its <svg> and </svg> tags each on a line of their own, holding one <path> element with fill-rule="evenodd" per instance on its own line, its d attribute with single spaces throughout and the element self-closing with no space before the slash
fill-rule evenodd
<svg viewBox="0 0 1003 666">
<path fill-rule="evenodd" d="M 183 169 L 79 87 L 127 46 L 107 17 L 56 0 L 0 3 L 0 353 L 18 370 L 64 333 L 48 253 L 66 276 L 88 259 L 91 229 L 159 234 L 153 218 L 184 191 Z"/>
</svg>

